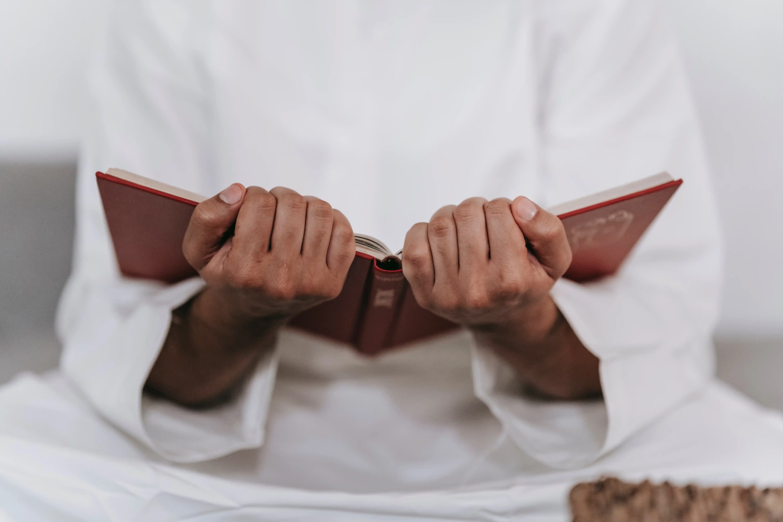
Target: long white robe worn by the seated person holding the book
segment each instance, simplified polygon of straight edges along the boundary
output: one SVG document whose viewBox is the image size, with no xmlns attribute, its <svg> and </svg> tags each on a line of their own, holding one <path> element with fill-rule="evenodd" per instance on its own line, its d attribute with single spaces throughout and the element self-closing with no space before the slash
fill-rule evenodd
<svg viewBox="0 0 783 522">
<path fill-rule="evenodd" d="M 75 502 L 80 520 L 503 520 L 562 517 L 567 485 L 604 470 L 783 481 L 780 419 L 709 384 L 720 233 L 655 2 L 128 0 L 99 48 L 62 373 L 0 391 L 0 480 L 20 499 Z M 526 397 L 466 332 L 368 359 L 285 331 L 233 401 L 189 410 L 142 388 L 204 283 L 121 278 L 94 179 L 108 167 L 205 195 L 284 185 L 392 250 L 471 196 L 547 206 L 659 171 L 684 185 L 618 274 L 552 290 L 603 401 Z M 25 486 L 36 459 L 49 488 Z"/>
</svg>

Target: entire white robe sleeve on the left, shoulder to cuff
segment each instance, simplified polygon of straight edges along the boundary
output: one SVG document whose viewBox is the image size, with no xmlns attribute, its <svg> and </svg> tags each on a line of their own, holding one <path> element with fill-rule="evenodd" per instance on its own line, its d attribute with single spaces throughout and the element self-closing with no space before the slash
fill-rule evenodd
<svg viewBox="0 0 783 522">
<path fill-rule="evenodd" d="M 215 193 L 208 110 L 194 31 L 198 9 L 120 2 L 88 85 L 91 117 L 77 182 L 74 267 L 60 300 L 61 367 L 98 411 L 164 458 L 211 459 L 262 444 L 276 373 L 259 362 L 236 398 L 193 411 L 143 396 L 171 311 L 204 285 L 164 286 L 121 277 L 95 172 L 108 167 L 197 193 Z"/>
</svg>

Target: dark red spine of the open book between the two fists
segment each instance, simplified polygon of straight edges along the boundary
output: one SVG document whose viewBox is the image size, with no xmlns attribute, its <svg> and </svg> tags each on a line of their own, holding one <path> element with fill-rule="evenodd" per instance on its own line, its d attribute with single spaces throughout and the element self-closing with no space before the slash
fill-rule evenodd
<svg viewBox="0 0 783 522">
<path fill-rule="evenodd" d="M 388 346 L 390 330 L 405 290 L 402 270 L 388 271 L 373 265 L 366 310 L 356 337 L 356 349 L 366 355 L 375 355 Z"/>
</svg>

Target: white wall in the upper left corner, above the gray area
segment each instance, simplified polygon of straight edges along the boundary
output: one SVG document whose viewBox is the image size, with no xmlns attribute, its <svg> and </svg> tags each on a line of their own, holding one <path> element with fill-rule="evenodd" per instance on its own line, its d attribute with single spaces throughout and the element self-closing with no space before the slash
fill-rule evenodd
<svg viewBox="0 0 783 522">
<path fill-rule="evenodd" d="M 108 0 L 0 0 L 0 159 L 75 159 Z"/>
</svg>

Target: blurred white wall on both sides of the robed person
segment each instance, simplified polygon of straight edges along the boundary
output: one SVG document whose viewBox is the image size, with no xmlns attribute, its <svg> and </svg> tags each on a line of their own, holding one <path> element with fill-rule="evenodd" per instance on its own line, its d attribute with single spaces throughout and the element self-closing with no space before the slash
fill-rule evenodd
<svg viewBox="0 0 783 522">
<path fill-rule="evenodd" d="M 75 157 L 81 78 L 109 2 L 0 0 L 0 160 Z M 667 0 L 727 238 L 720 333 L 783 334 L 783 2 Z"/>
</svg>

